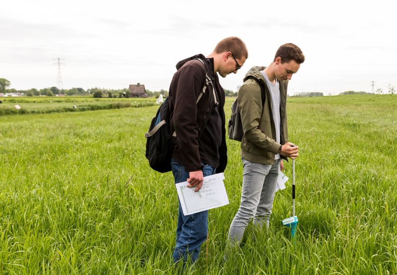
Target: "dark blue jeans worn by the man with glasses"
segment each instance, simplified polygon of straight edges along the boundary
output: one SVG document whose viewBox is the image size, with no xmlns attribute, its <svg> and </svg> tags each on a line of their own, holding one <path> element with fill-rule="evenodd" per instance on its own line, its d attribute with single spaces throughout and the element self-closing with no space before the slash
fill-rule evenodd
<svg viewBox="0 0 397 275">
<path fill-rule="evenodd" d="M 203 176 L 215 174 L 215 168 L 210 165 L 203 166 Z M 184 182 L 189 178 L 189 172 L 185 171 L 185 166 L 179 164 L 174 159 L 171 160 L 172 173 L 174 174 L 175 184 Z M 178 198 L 179 201 L 179 198 Z M 176 245 L 173 253 L 174 262 L 188 258 L 196 262 L 199 258 L 200 246 L 206 240 L 208 234 L 208 210 L 185 216 L 179 202 L 178 225 Z"/>
</svg>

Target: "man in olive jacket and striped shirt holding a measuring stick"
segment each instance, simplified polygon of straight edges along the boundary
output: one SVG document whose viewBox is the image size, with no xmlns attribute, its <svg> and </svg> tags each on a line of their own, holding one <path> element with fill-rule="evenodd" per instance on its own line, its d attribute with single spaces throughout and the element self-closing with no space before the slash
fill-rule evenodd
<svg viewBox="0 0 397 275">
<path fill-rule="evenodd" d="M 273 62 L 247 72 L 237 100 L 244 136 L 241 141 L 243 189 L 240 207 L 230 225 L 229 245 L 239 244 L 244 231 L 254 224 L 269 226 L 281 158 L 298 157 L 298 146 L 288 142 L 286 99 L 288 80 L 305 61 L 301 49 L 292 43 L 280 46 Z M 252 78 L 256 79 L 252 79 Z M 260 81 L 265 87 L 262 103 Z"/>
</svg>

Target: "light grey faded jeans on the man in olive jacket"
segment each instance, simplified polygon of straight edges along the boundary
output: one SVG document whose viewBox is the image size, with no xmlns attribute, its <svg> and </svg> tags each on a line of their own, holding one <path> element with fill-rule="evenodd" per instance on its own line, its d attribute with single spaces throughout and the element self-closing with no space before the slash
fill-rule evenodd
<svg viewBox="0 0 397 275">
<path fill-rule="evenodd" d="M 274 165 L 260 164 L 242 158 L 243 189 L 240 207 L 229 229 L 229 245 L 239 244 L 248 223 L 254 218 L 254 224 L 262 228 L 269 226 L 271 208 L 277 185 L 280 161 Z"/>
</svg>

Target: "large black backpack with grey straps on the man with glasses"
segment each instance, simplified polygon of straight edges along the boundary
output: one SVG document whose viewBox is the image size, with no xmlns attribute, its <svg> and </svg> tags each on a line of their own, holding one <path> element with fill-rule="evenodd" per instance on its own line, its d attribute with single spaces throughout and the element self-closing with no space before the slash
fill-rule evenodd
<svg viewBox="0 0 397 275">
<path fill-rule="evenodd" d="M 207 86 L 212 85 L 211 78 L 208 76 L 207 67 L 201 59 L 197 58 L 201 63 L 204 64 L 205 68 L 205 80 L 199 97 L 196 100 L 196 104 L 199 102 L 201 96 L 204 94 Z M 214 94 L 214 100 L 216 100 L 215 89 L 212 88 Z M 211 110 L 211 108 L 208 108 Z M 169 126 L 170 114 L 172 113 L 171 106 L 169 104 L 168 97 L 160 105 L 157 110 L 156 116 L 152 119 L 148 133 L 145 134 L 146 138 L 146 158 L 149 160 L 149 165 L 152 169 L 165 173 L 171 171 L 171 158 L 174 144 L 172 136 L 176 137 L 175 132 L 171 133 Z M 209 116 L 205 116 L 203 126 L 199 130 L 199 137 L 204 131 L 206 122 Z"/>
</svg>

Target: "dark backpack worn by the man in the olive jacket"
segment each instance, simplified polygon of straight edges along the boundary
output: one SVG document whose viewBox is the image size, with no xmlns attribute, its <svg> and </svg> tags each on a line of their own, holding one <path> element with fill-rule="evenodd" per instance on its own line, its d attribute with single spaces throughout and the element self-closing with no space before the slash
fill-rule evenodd
<svg viewBox="0 0 397 275">
<path fill-rule="evenodd" d="M 254 76 L 248 76 L 247 79 L 255 79 L 255 81 L 257 81 L 259 86 L 261 87 L 262 108 L 263 108 L 266 97 L 264 84 Z M 229 136 L 230 139 L 237 140 L 240 142 L 244 136 L 243 124 L 241 122 L 240 109 L 237 98 L 232 104 L 232 115 L 230 116 L 229 123 L 227 125 L 227 135 Z"/>
</svg>

